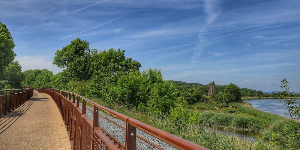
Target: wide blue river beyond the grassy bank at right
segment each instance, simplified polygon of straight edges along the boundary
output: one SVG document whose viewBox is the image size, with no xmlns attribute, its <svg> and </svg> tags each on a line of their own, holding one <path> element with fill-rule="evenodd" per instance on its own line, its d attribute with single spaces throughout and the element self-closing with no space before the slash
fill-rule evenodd
<svg viewBox="0 0 300 150">
<path fill-rule="evenodd" d="M 262 110 L 264 112 L 284 116 L 286 118 L 291 118 L 289 115 L 285 115 L 284 113 L 288 113 L 286 109 L 286 105 L 283 105 L 283 102 L 279 102 L 281 99 L 260 99 L 260 100 L 248 100 L 244 102 L 248 102 L 252 107 Z"/>
</svg>

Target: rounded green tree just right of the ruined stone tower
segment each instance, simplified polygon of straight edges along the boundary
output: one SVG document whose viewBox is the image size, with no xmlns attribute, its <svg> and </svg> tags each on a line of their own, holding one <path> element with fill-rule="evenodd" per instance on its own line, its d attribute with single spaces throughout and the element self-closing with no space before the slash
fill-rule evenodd
<svg viewBox="0 0 300 150">
<path fill-rule="evenodd" d="M 224 89 L 224 102 L 242 102 L 241 101 L 241 89 L 233 84 L 230 83 L 229 85 L 226 86 Z"/>
</svg>

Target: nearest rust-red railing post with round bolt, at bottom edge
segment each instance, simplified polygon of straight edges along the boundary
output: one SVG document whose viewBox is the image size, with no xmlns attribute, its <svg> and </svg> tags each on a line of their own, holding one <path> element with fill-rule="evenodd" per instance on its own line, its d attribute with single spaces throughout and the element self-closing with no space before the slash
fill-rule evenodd
<svg viewBox="0 0 300 150">
<path fill-rule="evenodd" d="M 129 117 L 126 120 L 125 149 L 136 150 L 137 149 L 137 135 L 136 135 L 137 129 L 133 125 L 131 125 L 130 119 L 133 119 L 133 118 Z"/>
</svg>

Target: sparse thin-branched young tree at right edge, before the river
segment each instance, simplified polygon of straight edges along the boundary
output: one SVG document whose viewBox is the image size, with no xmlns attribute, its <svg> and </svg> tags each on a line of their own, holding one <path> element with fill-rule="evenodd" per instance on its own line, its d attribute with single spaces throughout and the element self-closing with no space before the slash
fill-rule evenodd
<svg viewBox="0 0 300 150">
<path fill-rule="evenodd" d="M 286 115 L 291 116 L 292 119 L 299 119 L 300 118 L 300 103 L 299 98 L 295 98 L 294 91 L 290 92 L 289 88 L 289 82 L 286 81 L 286 79 L 283 79 L 282 81 L 283 86 L 280 86 L 280 88 L 284 88 L 285 91 L 283 91 L 283 95 L 280 95 L 282 97 L 282 100 L 278 100 L 280 102 L 284 102 L 283 105 L 287 105 L 286 109 L 289 110 L 288 113 L 285 113 Z"/>
</svg>

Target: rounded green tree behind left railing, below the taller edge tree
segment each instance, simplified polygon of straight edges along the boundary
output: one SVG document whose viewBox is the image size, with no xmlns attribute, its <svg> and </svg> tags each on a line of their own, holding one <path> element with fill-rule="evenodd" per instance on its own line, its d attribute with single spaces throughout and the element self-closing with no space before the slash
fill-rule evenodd
<svg viewBox="0 0 300 150">
<path fill-rule="evenodd" d="M 21 83 L 25 79 L 25 76 L 18 61 L 12 62 L 5 67 L 3 79 L 8 81 L 7 84 L 12 88 L 22 88 Z"/>
</svg>

